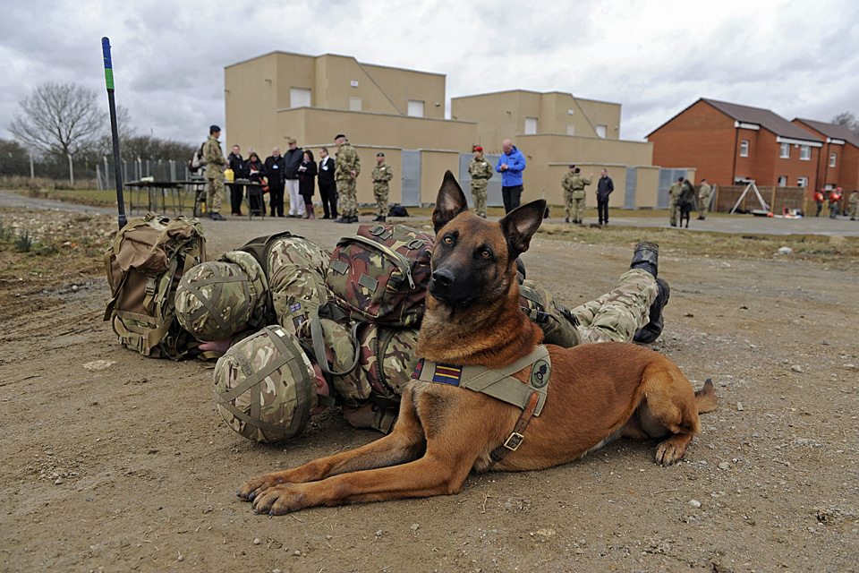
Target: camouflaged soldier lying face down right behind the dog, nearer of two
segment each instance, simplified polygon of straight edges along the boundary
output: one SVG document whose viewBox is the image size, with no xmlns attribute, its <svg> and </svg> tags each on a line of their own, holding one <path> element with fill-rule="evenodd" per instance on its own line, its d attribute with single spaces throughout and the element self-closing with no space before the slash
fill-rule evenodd
<svg viewBox="0 0 859 573">
<path fill-rule="evenodd" d="M 572 311 L 530 280 L 520 286 L 523 310 L 558 346 L 619 341 L 650 343 L 662 330 L 668 283 L 657 279 L 658 247 L 636 246 L 630 269 L 606 295 Z M 178 303 L 177 303 L 178 307 Z M 389 432 L 399 397 L 418 363 L 418 329 L 349 323 L 333 303 L 319 306 L 293 336 L 267 328 L 230 346 L 215 369 L 218 409 L 247 438 L 277 441 L 302 432 L 310 415 L 343 408 L 355 427 Z M 321 355 L 326 360 L 320 361 Z"/>
</svg>

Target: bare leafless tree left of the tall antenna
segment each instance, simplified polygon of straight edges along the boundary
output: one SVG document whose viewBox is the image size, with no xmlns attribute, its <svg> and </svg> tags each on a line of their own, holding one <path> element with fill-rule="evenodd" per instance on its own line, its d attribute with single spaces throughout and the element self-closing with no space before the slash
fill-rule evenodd
<svg viewBox="0 0 859 573">
<path fill-rule="evenodd" d="M 105 130 L 96 92 L 75 83 L 40 84 L 18 105 L 9 131 L 25 147 L 47 155 L 74 157 Z"/>
</svg>

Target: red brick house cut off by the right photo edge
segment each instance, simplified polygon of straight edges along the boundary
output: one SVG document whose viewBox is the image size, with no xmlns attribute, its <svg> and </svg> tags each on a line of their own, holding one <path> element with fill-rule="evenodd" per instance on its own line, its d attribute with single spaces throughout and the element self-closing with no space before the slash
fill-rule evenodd
<svg viewBox="0 0 859 573">
<path fill-rule="evenodd" d="M 817 164 L 818 188 L 842 187 L 845 196 L 850 191 L 859 189 L 859 135 L 844 125 L 826 124 L 799 117 L 794 123 L 824 141 Z"/>
</svg>

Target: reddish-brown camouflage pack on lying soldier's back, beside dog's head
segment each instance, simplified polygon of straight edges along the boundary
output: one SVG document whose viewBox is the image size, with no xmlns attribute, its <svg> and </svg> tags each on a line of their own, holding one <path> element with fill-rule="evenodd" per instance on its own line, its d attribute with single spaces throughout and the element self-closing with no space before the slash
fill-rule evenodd
<svg viewBox="0 0 859 573">
<path fill-rule="evenodd" d="M 423 318 L 434 237 L 404 225 L 361 225 L 337 242 L 326 286 L 355 321 L 414 326 Z"/>
</svg>

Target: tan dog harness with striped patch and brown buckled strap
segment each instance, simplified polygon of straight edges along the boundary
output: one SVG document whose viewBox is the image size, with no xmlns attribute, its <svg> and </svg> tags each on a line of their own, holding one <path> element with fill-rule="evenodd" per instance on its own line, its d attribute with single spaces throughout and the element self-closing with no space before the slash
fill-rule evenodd
<svg viewBox="0 0 859 573">
<path fill-rule="evenodd" d="M 527 383 L 512 376 L 528 366 L 531 366 L 531 375 Z M 546 404 L 546 389 L 551 372 L 549 350 L 540 345 L 530 355 L 498 370 L 486 366 L 451 366 L 421 359 L 412 373 L 412 378 L 470 389 L 522 408 L 522 415 L 519 416 L 513 432 L 502 445 L 489 454 L 492 458 L 489 465 L 491 467 L 504 458 L 508 451 L 516 451 L 522 444 L 523 432 L 531 421 L 531 416 L 540 415 Z"/>
</svg>

